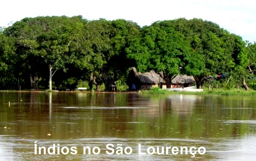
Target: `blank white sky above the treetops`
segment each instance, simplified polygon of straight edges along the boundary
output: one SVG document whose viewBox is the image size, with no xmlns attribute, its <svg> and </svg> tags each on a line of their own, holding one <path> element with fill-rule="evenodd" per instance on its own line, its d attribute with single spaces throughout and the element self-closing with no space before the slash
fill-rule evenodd
<svg viewBox="0 0 256 161">
<path fill-rule="evenodd" d="M 256 41 L 254 0 L 5 0 L 0 5 L 2 27 L 25 17 L 37 16 L 82 15 L 88 20 L 122 18 L 140 26 L 185 17 L 210 20 L 230 33 L 240 35 L 243 40 Z"/>
</svg>

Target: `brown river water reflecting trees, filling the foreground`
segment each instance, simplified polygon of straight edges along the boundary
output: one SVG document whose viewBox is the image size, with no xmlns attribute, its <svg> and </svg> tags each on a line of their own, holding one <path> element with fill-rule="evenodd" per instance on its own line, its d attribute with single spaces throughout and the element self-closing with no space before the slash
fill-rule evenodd
<svg viewBox="0 0 256 161">
<path fill-rule="evenodd" d="M 0 160 L 190 159 L 255 160 L 254 96 L 0 92 Z"/>
</svg>

